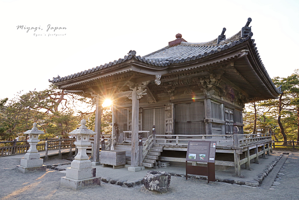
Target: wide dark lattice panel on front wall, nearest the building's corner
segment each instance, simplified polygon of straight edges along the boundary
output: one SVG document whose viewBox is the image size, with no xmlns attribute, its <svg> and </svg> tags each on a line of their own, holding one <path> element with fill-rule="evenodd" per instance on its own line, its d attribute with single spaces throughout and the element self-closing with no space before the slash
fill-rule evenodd
<svg viewBox="0 0 299 200">
<path fill-rule="evenodd" d="M 175 105 L 175 134 L 204 134 L 203 102 Z"/>
</svg>

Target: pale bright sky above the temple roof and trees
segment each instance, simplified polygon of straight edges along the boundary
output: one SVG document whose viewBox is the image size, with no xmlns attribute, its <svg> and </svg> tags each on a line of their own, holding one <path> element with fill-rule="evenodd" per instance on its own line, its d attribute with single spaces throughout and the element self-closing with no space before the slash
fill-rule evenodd
<svg viewBox="0 0 299 200">
<path fill-rule="evenodd" d="M 146 55 L 176 33 L 206 42 L 226 27 L 228 38 L 248 17 L 270 77 L 291 75 L 299 68 L 299 0 L 0 0 L 0 99 L 130 50 Z"/>
</svg>

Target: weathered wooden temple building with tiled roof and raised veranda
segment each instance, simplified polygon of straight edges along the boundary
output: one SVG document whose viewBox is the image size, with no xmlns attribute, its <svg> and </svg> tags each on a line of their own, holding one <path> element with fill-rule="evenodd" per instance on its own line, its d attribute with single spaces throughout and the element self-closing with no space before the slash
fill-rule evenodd
<svg viewBox="0 0 299 200">
<path fill-rule="evenodd" d="M 240 166 L 250 168 L 250 161 L 258 163 L 259 156 L 272 150 L 271 136 L 243 134 L 244 105 L 280 94 L 252 39 L 250 22 L 248 18 L 229 38 L 223 28 L 208 42 L 190 43 L 178 33 L 166 47 L 148 55 L 130 50 L 124 58 L 49 81 L 96 100 L 95 162 L 99 162 L 101 104 L 110 98 L 113 135 L 117 127 L 119 132 L 112 148 L 127 151 L 133 171 L 153 167 L 157 161 L 184 164 L 189 140 L 211 140 L 217 142 L 216 167 L 234 167 L 239 176 Z M 144 141 L 141 157 L 139 136 Z"/>
</svg>

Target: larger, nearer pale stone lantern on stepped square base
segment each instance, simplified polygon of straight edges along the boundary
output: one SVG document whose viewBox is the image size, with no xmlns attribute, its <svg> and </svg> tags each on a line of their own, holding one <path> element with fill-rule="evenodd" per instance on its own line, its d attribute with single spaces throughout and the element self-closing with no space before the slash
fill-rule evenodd
<svg viewBox="0 0 299 200">
<path fill-rule="evenodd" d="M 71 167 L 66 169 L 66 176 L 61 177 L 61 187 L 77 190 L 82 187 L 100 186 L 101 184 L 101 178 L 96 177 L 96 168 L 91 168 L 91 161 L 86 154 L 86 149 L 91 145 L 89 136 L 95 135 L 96 133 L 87 129 L 85 125 L 86 121 L 83 119 L 80 128 L 70 133 L 70 135 L 76 135 L 77 140 L 75 145 L 78 149 L 78 154 L 71 163 Z"/>
</svg>

